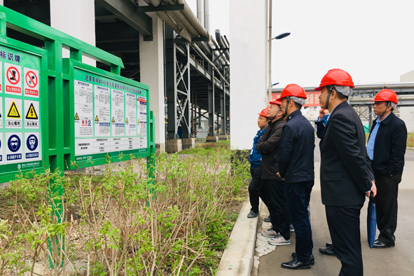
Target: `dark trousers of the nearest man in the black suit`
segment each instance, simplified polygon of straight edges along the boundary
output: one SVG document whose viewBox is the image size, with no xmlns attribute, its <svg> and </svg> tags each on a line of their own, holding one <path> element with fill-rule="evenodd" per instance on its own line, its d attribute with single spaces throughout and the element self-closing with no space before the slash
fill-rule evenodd
<svg viewBox="0 0 414 276">
<path fill-rule="evenodd" d="M 364 205 L 325 206 L 326 221 L 336 257 L 342 263 L 339 276 L 362 276 L 361 230 L 359 216 Z"/>
</svg>

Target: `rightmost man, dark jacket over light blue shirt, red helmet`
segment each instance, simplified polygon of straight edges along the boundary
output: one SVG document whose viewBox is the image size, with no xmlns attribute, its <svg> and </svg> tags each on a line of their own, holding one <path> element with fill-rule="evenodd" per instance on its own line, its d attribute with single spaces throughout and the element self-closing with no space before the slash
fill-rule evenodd
<svg viewBox="0 0 414 276">
<path fill-rule="evenodd" d="M 373 123 L 366 145 L 378 189 L 375 209 L 380 235 L 373 248 L 387 248 L 395 245 L 398 185 L 403 174 L 407 128 L 403 120 L 392 113 L 398 104 L 394 91 L 381 90 L 373 102 L 378 118 Z"/>
</svg>

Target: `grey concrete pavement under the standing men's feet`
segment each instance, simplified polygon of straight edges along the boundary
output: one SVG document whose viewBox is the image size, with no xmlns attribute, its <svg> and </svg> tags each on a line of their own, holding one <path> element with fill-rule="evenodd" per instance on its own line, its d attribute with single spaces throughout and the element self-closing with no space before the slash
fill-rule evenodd
<svg viewBox="0 0 414 276">
<path fill-rule="evenodd" d="M 319 144 L 317 141 L 316 144 Z M 310 270 L 286 270 L 281 268 L 281 263 L 291 260 L 291 253 L 295 251 L 295 235 L 291 235 L 291 244 L 275 247 L 267 243 L 268 238 L 260 235 L 261 230 L 270 228 L 270 223 L 264 223 L 268 216 L 268 210 L 262 204 L 261 216 L 256 235 L 256 252 L 254 266 L 251 275 L 338 275 L 340 261 L 336 256 L 324 256 L 319 254 L 319 247 L 325 247 L 326 242 L 331 242 L 329 229 L 326 223 L 324 205 L 321 202 L 319 185 L 319 149 L 315 149 L 315 186 L 312 190 L 310 209 L 312 218 L 312 235 L 315 256 L 315 265 Z M 408 149 L 406 153 L 406 165 L 403 179 L 399 185 L 399 218 L 396 229 L 396 246 L 388 249 L 370 249 L 366 234 L 366 213 L 368 200 L 361 210 L 361 245 L 364 258 L 364 275 L 414 275 L 414 150 Z M 378 230 L 377 230 L 378 235 Z"/>
</svg>

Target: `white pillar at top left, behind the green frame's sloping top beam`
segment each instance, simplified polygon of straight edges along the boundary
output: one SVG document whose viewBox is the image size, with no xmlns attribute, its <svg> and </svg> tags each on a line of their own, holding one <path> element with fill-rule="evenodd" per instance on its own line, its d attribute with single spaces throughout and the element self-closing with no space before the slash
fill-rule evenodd
<svg viewBox="0 0 414 276">
<path fill-rule="evenodd" d="M 95 46 L 95 1 L 50 0 L 50 26 Z M 62 55 L 69 57 L 69 49 Z M 83 56 L 82 62 L 96 66 L 89 57 Z"/>
</svg>

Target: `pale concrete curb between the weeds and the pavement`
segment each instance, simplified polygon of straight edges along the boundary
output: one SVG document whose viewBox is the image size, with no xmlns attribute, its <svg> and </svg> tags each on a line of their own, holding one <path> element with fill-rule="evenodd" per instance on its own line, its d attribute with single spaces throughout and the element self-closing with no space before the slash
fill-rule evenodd
<svg viewBox="0 0 414 276">
<path fill-rule="evenodd" d="M 243 202 L 240 214 L 224 249 L 216 276 L 250 276 L 256 247 L 258 216 L 247 219 L 250 212 L 249 197 Z"/>
</svg>

